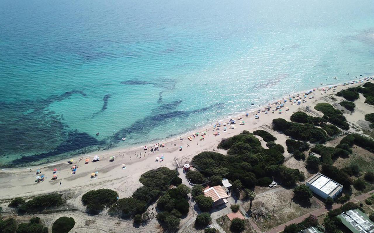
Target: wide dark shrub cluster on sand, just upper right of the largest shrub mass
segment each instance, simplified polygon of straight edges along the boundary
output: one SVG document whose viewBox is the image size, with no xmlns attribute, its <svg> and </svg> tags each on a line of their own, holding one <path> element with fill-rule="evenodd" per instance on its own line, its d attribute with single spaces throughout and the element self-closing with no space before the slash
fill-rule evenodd
<svg viewBox="0 0 374 233">
<path fill-rule="evenodd" d="M 325 142 L 326 132 L 309 123 L 288 122 L 285 119 L 273 119 L 273 129 L 284 133 L 296 140 L 314 142 Z"/>
</svg>

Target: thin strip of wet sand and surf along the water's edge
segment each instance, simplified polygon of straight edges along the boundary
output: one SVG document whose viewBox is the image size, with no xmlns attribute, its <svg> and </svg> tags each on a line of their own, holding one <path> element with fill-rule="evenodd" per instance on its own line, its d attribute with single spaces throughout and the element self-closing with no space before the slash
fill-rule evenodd
<svg viewBox="0 0 374 233">
<path fill-rule="evenodd" d="M 319 88 L 328 88 L 328 86 L 358 86 L 358 85 L 363 85 L 365 84 L 365 82 L 368 82 L 368 81 L 371 81 L 374 79 L 374 76 L 367 76 L 367 77 L 362 77 L 362 79 L 359 79 L 359 80 L 351 80 L 351 81 L 348 81 L 348 82 L 344 82 L 344 83 L 338 83 L 338 84 L 326 84 L 324 86 L 318 86 L 318 87 L 314 87 L 314 88 L 311 88 L 311 89 L 316 89 L 316 90 L 319 90 Z M 364 80 L 363 83 L 361 83 L 360 81 L 361 80 Z M 354 82 L 358 82 L 358 83 L 353 83 L 351 84 L 351 82 L 354 81 Z M 348 83 L 348 84 L 347 84 Z M 346 85 L 344 85 L 346 84 Z M 269 105 L 274 105 L 276 103 L 277 100 L 281 99 L 281 100 L 284 100 L 286 98 L 289 98 L 290 96 L 295 96 L 295 95 L 301 95 L 301 94 L 304 94 L 306 92 L 308 92 L 309 90 L 311 89 L 306 89 L 306 90 L 303 90 L 303 91 L 300 91 L 300 92 L 292 92 L 292 93 L 289 93 L 287 96 L 284 95 L 282 98 L 273 98 L 273 100 L 270 101 Z M 335 92 L 336 93 L 336 92 Z M 288 102 L 287 102 L 288 103 Z M 267 105 L 258 105 L 257 107 L 253 106 L 253 107 L 249 107 L 247 108 L 245 111 L 240 111 L 240 112 L 237 112 L 237 113 L 232 113 L 232 114 L 229 114 L 229 116 L 223 116 L 222 118 L 220 119 L 217 119 L 216 121 L 218 123 L 221 123 L 221 122 L 228 122 L 229 119 L 234 119 L 234 120 L 237 120 L 236 118 L 241 116 L 243 118 L 243 120 L 245 120 L 245 113 L 254 113 L 257 109 L 261 109 L 261 108 L 265 108 Z M 270 113 L 269 113 L 270 114 Z M 251 114 L 249 114 L 248 117 L 251 117 Z M 213 122 L 212 122 L 213 124 Z M 162 139 L 162 140 L 157 140 L 157 139 L 154 139 L 154 141 L 151 141 L 151 142 L 144 142 L 144 143 L 139 143 L 139 144 L 132 144 L 132 145 L 129 145 L 128 147 L 114 147 L 114 148 L 110 148 L 110 149 L 104 149 L 104 150 L 100 150 L 100 151 L 92 151 L 92 152 L 89 152 L 89 153 L 86 153 L 86 154 L 76 154 L 76 155 L 73 155 L 73 156 L 70 156 L 70 157 L 66 157 L 64 159 L 60 159 L 60 160 L 56 160 L 56 161 L 53 161 L 53 162 L 49 162 L 49 163 L 40 163 L 40 164 L 37 164 L 37 165 L 30 165 L 30 166 L 20 166 L 20 167 L 3 167 L 1 168 L 0 172 L 6 172 L 6 171 L 24 171 L 24 170 L 30 170 L 30 168 L 33 168 L 33 167 L 50 167 L 50 166 L 56 166 L 58 164 L 64 164 L 66 163 L 67 160 L 71 160 L 73 159 L 74 161 L 77 161 L 76 158 L 80 158 L 80 157 L 83 157 L 83 158 L 86 158 L 86 157 L 89 157 L 91 158 L 91 156 L 95 156 L 95 155 L 98 155 L 99 157 L 103 156 L 103 158 L 105 158 L 105 156 L 110 156 L 110 155 L 113 155 L 113 154 L 117 154 L 117 153 L 126 153 L 126 152 L 131 152 L 131 151 L 136 151 L 136 150 L 142 150 L 142 147 L 143 145 L 147 145 L 148 148 L 151 148 L 154 146 L 154 144 L 157 142 L 157 143 L 160 143 L 160 144 L 175 144 L 176 142 L 179 142 L 179 141 L 182 141 L 185 140 L 186 138 L 184 137 L 187 137 L 187 135 L 193 135 L 194 133 L 196 132 L 204 132 L 204 131 L 210 131 L 209 128 L 211 128 L 213 125 L 209 125 L 209 123 L 205 126 L 199 126 L 199 127 L 196 127 L 196 129 L 193 129 L 193 130 L 188 130 L 184 133 L 181 133 L 181 134 L 178 134 L 178 135 L 175 135 L 175 136 L 171 136 L 171 137 L 166 137 L 165 139 Z M 180 140 L 181 138 L 184 138 L 182 140 Z M 162 151 L 162 148 L 160 148 Z M 131 164 L 131 163 L 128 163 L 128 164 Z"/>
</svg>

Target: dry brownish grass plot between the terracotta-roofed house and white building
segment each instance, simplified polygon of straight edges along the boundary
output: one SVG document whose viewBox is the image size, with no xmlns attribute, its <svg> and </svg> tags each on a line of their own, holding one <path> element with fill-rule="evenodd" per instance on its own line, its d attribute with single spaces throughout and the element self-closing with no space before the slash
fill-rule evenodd
<svg viewBox="0 0 374 233">
<path fill-rule="evenodd" d="M 304 206 L 292 201 L 294 194 L 292 189 L 282 189 L 281 191 L 269 193 L 256 198 L 252 202 L 252 212 L 257 216 L 254 221 L 262 231 L 267 231 L 280 224 L 286 223 L 301 215 L 321 208 L 314 199 L 310 199 L 310 205 Z M 249 209 L 249 202 L 243 208 Z M 274 214 L 273 214 L 274 209 Z"/>
</svg>

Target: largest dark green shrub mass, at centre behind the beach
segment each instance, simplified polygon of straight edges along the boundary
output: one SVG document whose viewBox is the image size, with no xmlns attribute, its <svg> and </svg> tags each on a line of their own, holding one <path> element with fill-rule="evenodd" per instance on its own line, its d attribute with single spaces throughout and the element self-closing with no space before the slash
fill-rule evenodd
<svg viewBox="0 0 374 233">
<path fill-rule="evenodd" d="M 233 188 L 234 191 L 243 187 L 268 185 L 273 176 L 279 180 L 287 180 L 285 177 L 290 177 L 288 174 L 291 174 L 292 179 L 286 182 L 288 184 L 299 180 L 299 177 L 303 176 L 300 171 L 278 166 L 284 161 L 282 149 L 276 144 L 270 147 L 263 148 L 258 138 L 248 131 L 243 131 L 239 135 L 223 139 L 218 145 L 218 148 L 228 149 L 228 156 L 217 152 L 202 152 L 196 155 L 192 162 L 206 177 L 219 175 L 229 179 L 233 186 L 237 184 Z M 272 165 L 275 167 L 267 169 Z"/>
</svg>

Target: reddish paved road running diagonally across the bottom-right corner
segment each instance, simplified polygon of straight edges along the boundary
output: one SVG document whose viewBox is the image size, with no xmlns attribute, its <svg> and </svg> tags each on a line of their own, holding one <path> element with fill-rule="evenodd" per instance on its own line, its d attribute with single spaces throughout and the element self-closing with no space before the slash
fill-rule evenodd
<svg viewBox="0 0 374 233">
<path fill-rule="evenodd" d="M 364 193 L 362 195 L 356 196 L 355 198 L 351 199 L 350 201 L 351 202 L 364 201 L 365 199 L 367 199 L 368 197 L 370 197 L 373 193 L 374 193 L 374 190 L 372 190 L 370 192 L 367 192 L 367 193 Z M 335 210 L 335 209 L 337 209 L 339 207 L 341 207 L 341 204 L 336 204 L 336 205 L 332 206 L 332 209 Z M 288 226 L 289 224 L 292 224 L 292 223 L 301 223 L 305 218 L 309 217 L 309 215 L 311 215 L 311 214 L 319 216 L 319 215 L 325 214 L 326 212 L 328 212 L 328 210 L 325 207 L 321 207 L 318 210 L 314 210 L 314 211 L 309 212 L 307 214 L 304 214 L 304 215 L 302 215 L 302 216 L 300 216 L 298 218 L 295 218 L 295 219 L 293 219 L 291 221 L 283 223 L 282 225 L 274 227 L 273 229 L 267 231 L 266 233 L 278 233 L 278 232 L 282 232 L 284 230 L 284 227 L 286 225 Z"/>
</svg>

